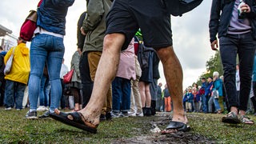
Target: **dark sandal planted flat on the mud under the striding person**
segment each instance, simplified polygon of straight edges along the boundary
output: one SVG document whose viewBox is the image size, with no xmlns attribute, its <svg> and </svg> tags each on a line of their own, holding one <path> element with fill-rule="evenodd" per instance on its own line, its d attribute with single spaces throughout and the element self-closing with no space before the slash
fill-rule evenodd
<svg viewBox="0 0 256 144">
<path fill-rule="evenodd" d="M 171 121 L 168 126 L 166 126 L 166 130 L 162 131 L 162 134 L 170 134 L 173 132 L 168 132 L 168 130 L 177 130 L 177 131 L 182 131 L 182 132 L 188 132 L 190 131 L 190 126 L 186 125 L 183 122 L 175 122 Z"/>
</svg>

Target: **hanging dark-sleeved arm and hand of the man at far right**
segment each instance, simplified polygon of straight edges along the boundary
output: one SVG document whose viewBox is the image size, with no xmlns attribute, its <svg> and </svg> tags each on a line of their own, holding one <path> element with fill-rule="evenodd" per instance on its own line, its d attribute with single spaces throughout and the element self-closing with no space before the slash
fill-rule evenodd
<svg viewBox="0 0 256 144">
<path fill-rule="evenodd" d="M 211 49 L 217 50 L 218 41 L 217 41 L 217 33 L 218 33 L 218 22 L 220 18 L 221 12 L 221 1 L 213 0 L 210 10 L 210 22 L 209 22 L 209 30 L 210 30 L 210 43 Z M 216 46 L 216 47 L 215 47 Z"/>
</svg>

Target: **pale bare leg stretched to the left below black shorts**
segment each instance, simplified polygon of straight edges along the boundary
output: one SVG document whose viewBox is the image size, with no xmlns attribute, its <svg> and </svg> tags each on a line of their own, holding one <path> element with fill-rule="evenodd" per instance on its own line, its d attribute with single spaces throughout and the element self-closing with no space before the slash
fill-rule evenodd
<svg viewBox="0 0 256 144">
<path fill-rule="evenodd" d="M 106 93 L 118 70 L 120 50 L 125 42 L 123 34 L 107 34 L 104 38 L 102 57 L 94 80 L 94 89 L 87 106 L 80 112 L 94 126 L 99 123 L 99 116 L 103 103 L 106 102 Z"/>
</svg>

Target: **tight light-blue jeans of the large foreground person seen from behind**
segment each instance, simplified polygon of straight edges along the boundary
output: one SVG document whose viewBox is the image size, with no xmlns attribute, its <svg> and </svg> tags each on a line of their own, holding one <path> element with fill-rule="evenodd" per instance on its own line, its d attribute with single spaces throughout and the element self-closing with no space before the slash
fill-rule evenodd
<svg viewBox="0 0 256 144">
<path fill-rule="evenodd" d="M 50 112 L 54 112 L 54 109 L 58 108 L 62 94 L 60 70 L 64 51 L 63 38 L 48 34 L 37 34 L 32 39 L 29 81 L 30 110 L 37 109 L 40 82 L 45 62 L 50 78 Z"/>
</svg>

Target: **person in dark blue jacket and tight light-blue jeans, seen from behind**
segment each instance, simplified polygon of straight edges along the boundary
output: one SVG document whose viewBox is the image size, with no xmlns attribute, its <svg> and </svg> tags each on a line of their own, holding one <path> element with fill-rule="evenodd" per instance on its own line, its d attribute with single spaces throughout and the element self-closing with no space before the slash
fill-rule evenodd
<svg viewBox="0 0 256 144">
<path fill-rule="evenodd" d="M 30 46 L 30 110 L 25 118 L 38 118 L 36 110 L 45 63 L 50 78 L 50 109 L 44 115 L 49 116 L 49 113 L 54 113 L 54 109 L 58 109 L 62 96 L 60 71 L 65 51 L 63 38 L 66 34 L 66 14 L 73 3 L 74 0 L 43 0 L 38 7 L 38 27 Z"/>
</svg>

